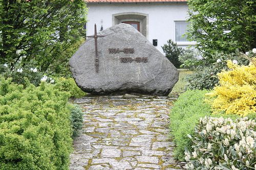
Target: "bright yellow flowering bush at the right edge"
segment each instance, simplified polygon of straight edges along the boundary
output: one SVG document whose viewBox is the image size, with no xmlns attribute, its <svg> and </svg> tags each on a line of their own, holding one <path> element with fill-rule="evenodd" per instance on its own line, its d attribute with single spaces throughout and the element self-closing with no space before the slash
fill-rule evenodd
<svg viewBox="0 0 256 170">
<path fill-rule="evenodd" d="M 218 74 L 220 85 L 208 94 L 213 112 L 241 116 L 256 112 L 255 58 L 251 61 L 247 66 L 227 61 L 230 70 Z"/>
</svg>

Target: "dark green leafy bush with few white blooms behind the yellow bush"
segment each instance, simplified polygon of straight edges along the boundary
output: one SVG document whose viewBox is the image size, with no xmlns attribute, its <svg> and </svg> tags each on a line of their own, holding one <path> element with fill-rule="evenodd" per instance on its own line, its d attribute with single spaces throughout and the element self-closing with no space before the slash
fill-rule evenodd
<svg viewBox="0 0 256 170">
<path fill-rule="evenodd" d="M 212 89 L 219 83 L 217 74 L 222 70 L 228 70 L 227 60 L 232 60 L 238 64 L 248 64 L 249 60 L 242 58 L 237 51 L 229 55 L 216 53 L 212 55 L 214 61 L 200 60 L 199 67 L 195 74 L 186 77 L 188 82 L 187 89 Z"/>
</svg>

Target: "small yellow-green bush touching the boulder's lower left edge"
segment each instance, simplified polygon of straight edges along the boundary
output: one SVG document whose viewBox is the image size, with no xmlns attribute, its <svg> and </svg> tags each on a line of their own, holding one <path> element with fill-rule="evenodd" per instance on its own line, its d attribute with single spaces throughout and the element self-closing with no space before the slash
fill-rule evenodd
<svg viewBox="0 0 256 170">
<path fill-rule="evenodd" d="M 87 94 L 76 85 L 73 78 L 56 78 L 55 87 L 60 91 L 70 92 L 71 98 L 81 98 Z"/>
</svg>

